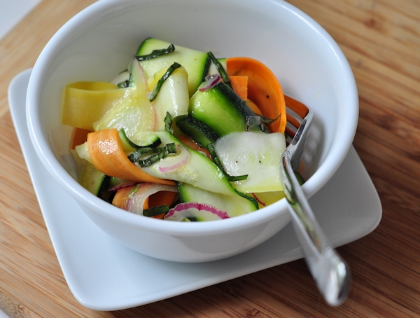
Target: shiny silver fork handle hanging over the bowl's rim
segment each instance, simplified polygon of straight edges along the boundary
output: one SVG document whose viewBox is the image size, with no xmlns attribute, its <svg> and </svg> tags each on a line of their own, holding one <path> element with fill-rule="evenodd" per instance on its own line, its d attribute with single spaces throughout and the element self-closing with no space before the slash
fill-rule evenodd
<svg viewBox="0 0 420 318">
<path fill-rule="evenodd" d="M 285 151 L 281 159 L 284 193 L 289 202 L 293 227 L 304 251 L 308 268 L 318 290 L 329 305 L 340 305 L 350 289 L 349 265 L 328 242 L 321 226 L 295 177 L 290 164 L 290 153 Z"/>
</svg>

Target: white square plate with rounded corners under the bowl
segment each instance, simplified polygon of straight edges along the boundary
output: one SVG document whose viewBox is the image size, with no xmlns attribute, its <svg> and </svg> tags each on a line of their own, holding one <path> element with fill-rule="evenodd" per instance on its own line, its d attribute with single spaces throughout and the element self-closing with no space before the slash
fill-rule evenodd
<svg viewBox="0 0 420 318">
<path fill-rule="evenodd" d="M 38 160 L 25 118 L 30 74 L 23 71 L 10 83 L 10 112 L 59 264 L 82 305 L 136 307 L 302 258 L 291 224 L 250 251 L 209 263 L 160 261 L 123 247 L 85 216 Z M 353 147 L 309 203 L 335 247 L 369 234 L 381 219 L 379 196 Z"/>
</svg>

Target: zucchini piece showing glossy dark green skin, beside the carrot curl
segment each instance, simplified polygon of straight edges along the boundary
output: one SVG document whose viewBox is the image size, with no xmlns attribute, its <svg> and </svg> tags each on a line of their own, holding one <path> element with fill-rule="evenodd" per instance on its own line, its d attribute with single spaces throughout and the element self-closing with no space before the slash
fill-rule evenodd
<svg viewBox="0 0 420 318">
<path fill-rule="evenodd" d="M 246 103 L 223 82 L 190 99 L 190 116 L 201 120 L 218 136 L 246 131 L 246 116 L 255 116 Z"/>
</svg>

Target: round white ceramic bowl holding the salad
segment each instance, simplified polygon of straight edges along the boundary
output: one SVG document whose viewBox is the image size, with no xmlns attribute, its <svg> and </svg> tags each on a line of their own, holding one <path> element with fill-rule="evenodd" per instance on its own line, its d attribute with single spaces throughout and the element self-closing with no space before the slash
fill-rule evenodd
<svg viewBox="0 0 420 318">
<path fill-rule="evenodd" d="M 125 212 L 73 179 L 71 128 L 61 124 L 64 85 L 110 81 L 148 36 L 218 57 L 254 57 L 288 95 L 313 109 L 302 170 L 308 197 L 335 173 L 356 131 L 358 95 L 346 58 L 314 20 L 281 0 L 101 0 L 59 29 L 34 65 L 27 92 L 31 141 L 48 172 L 99 228 L 169 261 L 212 261 L 265 242 L 290 221 L 284 199 L 237 218 L 179 223 Z"/>
</svg>

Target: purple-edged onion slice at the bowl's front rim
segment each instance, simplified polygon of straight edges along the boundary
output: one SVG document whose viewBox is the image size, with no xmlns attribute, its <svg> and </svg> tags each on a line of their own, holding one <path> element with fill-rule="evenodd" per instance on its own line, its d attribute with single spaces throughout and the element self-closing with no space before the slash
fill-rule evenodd
<svg viewBox="0 0 420 318">
<path fill-rule="evenodd" d="M 204 205 L 197 202 L 184 202 L 176 205 L 165 215 L 169 221 L 215 221 L 228 219 L 228 213 L 216 209 L 211 205 Z"/>
</svg>

